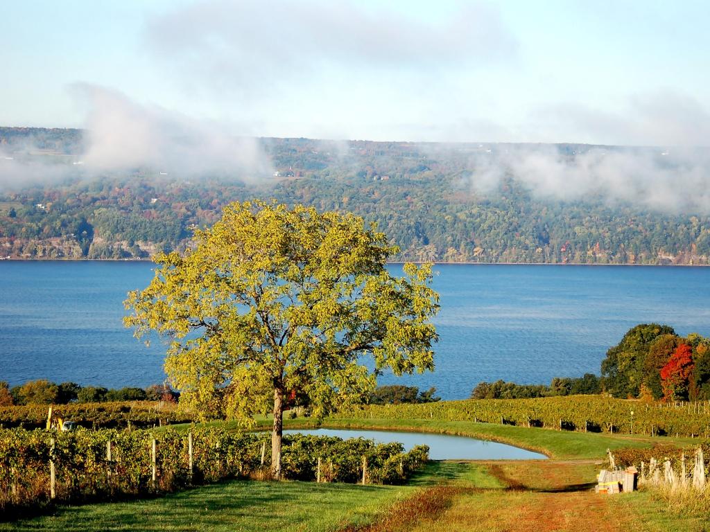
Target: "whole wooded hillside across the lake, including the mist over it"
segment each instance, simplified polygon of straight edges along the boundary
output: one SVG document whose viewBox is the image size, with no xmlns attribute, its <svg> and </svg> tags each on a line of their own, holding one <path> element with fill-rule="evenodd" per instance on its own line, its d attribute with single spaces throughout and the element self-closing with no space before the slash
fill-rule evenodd
<svg viewBox="0 0 710 532">
<path fill-rule="evenodd" d="M 707 264 L 709 151 L 0 128 L 0 256 L 184 249 L 253 198 L 353 211 L 398 260 Z M 115 132 L 114 132 L 115 133 Z M 203 134 L 204 133 L 204 134 Z"/>
</svg>

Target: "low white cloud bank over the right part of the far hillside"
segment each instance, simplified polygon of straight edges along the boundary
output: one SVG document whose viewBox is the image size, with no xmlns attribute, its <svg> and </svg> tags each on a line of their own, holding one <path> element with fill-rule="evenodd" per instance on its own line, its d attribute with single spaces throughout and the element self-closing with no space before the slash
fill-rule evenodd
<svg viewBox="0 0 710 532">
<path fill-rule="evenodd" d="M 600 197 L 677 214 L 710 213 L 710 149 L 582 147 L 562 153 L 555 145 L 498 147 L 476 157 L 471 186 L 488 193 L 514 176 L 542 198 Z"/>
</svg>

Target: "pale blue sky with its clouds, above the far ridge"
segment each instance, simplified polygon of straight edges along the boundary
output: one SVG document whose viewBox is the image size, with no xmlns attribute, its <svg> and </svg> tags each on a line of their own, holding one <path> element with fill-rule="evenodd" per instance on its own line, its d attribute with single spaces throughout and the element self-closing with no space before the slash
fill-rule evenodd
<svg viewBox="0 0 710 532">
<path fill-rule="evenodd" d="M 709 22 L 707 1 L 9 1 L 0 125 L 707 145 Z"/>
</svg>

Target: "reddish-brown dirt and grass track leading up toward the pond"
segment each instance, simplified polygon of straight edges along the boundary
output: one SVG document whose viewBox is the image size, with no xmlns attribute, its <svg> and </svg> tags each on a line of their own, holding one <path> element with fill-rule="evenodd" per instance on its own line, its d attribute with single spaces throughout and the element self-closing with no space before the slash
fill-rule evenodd
<svg viewBox="0 0 710 532">
<path fill-rule="evenodd" d="M 616 532 L 637 530 L 608 497 L 593 491 L 597 466 L 577 462 L 491 462 L 501 489 L 439 486 L 388 512 L 368 532 Z M 443 491 L 439 491 L 442 489 Z M 435 497 L 435 511 L 428 497 Z"/>
</svg>

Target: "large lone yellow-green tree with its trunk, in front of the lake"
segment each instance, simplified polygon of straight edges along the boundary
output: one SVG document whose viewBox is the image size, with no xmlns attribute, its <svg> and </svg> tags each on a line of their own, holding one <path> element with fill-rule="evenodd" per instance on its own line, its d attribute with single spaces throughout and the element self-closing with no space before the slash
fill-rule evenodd
<svg viewBox="0 0 710 532">
<path fill-rule="evenodd" d="M 433 369 L 431 268 L 408 264 L 395 278 L 386 260 L 397 251 L 352 214 L 237 202 L 184 254 L 155 257 L 125 323 L 138 338 L 168 338 L 165 370 L 183 407 L 251 423 L 271 406 L 279 477 L 288 394 L 305 394 L 320 417 L 366 401 L 385 368 Z"/>
</svg>

